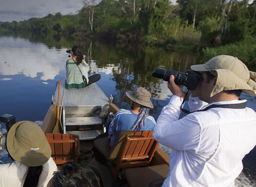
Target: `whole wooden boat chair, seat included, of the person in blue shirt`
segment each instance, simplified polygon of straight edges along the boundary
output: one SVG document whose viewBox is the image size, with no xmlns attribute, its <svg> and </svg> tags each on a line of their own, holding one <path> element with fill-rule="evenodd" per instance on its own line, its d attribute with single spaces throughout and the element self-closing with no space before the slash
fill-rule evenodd
<svg viewBox="0 0 256 187">
<path fill-rule="evenodd" d="M 107 159 L 114 160 L 114 180 L 121 168 L 149 165 L 159 144 L 152 133 L 153 130 L 122 131 L 110 152 L 107 151 L 109 138 L 94 140 L 94 147 Z"/>
</svg>

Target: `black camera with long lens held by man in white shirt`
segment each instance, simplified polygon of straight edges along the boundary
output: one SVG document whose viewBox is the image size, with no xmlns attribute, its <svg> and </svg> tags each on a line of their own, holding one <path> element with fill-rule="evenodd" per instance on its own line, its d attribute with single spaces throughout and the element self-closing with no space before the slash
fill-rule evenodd
<svg viewBox="0 0 256 187">
<path fill-rule="evenodd" d="M 186 73 L 163 69 L 155 67 L 152 73 L 153 77 L 163 79 L 164 81 L 169 81 L 171 75 L 174 75 L 174 82 L 177 85 L 184 85 L 188 90 L 195 90 L 199 81 L 202 79 L 202 75 L 193 70 L 187 70 Z"/>
</svg>

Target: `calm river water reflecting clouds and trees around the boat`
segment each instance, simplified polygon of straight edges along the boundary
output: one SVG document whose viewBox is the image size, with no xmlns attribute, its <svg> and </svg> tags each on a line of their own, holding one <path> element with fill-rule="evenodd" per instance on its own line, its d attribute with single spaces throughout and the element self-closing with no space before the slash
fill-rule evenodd
<svg viewBox="0 0 256 187">
<path fill-rule="evenodd" d="M 64 62 L 68 48 L 79 45 L 86 55 L 91 73 L 99 73 L 97 82 L 103 92 L 113 95 L 120 108 L 129 108 L 126 91 L 136 86 L 152 93 L 155 108 L 151 115 L 157 120 L 171 97 L 167 83 L 152 77 L 154 67 L 185 72 L 202 58 L 189 52 L 127 47 L 106 42 L 76 41 L 73 38 L 40 36 L 25 33 L 0 34 L 0 115 L 12 114 L 16 121 L 43 121 L 56 82 L 65 79 Z M 202 62 L 203 63 L 203 62 Z M 256 110 L 256 97 L 242 94 L 248 107 Z M 237 150 L 239 152 L 239 150 Z M 256 148 L 245 157 L 243 173 L 236 187 L 256 186 Z"/>
</svg>

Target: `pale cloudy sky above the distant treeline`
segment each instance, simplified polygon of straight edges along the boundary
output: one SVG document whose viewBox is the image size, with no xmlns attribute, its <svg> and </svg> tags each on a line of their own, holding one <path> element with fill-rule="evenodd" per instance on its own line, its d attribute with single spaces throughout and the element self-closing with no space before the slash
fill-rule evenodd
<svg viewBox="0 0 256 187">
<path fill-rule="evenodd" d="M 82 7 L 83 0 L 0 0 L 0 21 L 19 22 L 57 12 L 62 15 L 76 14 Z"/>
</svg>

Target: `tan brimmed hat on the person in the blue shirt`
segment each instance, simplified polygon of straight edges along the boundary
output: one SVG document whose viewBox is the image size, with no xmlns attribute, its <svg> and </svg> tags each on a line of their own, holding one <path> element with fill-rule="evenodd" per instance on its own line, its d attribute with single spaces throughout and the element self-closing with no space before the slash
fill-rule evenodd
<svg viewBox="0 0 256 187">
<path fill-rule="evenodd" d="M 127 91 L 126 95 L 138 104 L 141 104 L 149 108 L 154 108 L 150 100 L 151 94 L 145 88 L 138 87 L 134 91 Z"/>
</svg>

